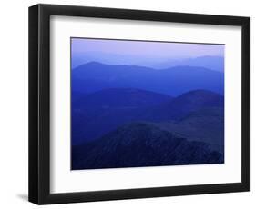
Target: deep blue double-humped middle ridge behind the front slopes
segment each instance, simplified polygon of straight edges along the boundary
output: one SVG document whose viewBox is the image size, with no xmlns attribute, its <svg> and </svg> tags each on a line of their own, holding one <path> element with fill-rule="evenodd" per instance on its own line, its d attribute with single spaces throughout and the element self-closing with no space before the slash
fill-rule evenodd
<svg viewBox="0 0 256 209">
<path fill-rule="evenodd" d="M 140 99 L 134 100 L 134 95 L 140 95 Z M 117 104 L 112 103 L 111 97 L 118 98 Z M 205 90 L 191 91 L 175 98 L 138 89 L 100 91 L 85 96 L 83 102 L 72 106 L 73 144 L 97 139 L 122 124 L 179 120 L 202 108 L 221 108 L 223 102 L 222 95 Z"/>
</svg>

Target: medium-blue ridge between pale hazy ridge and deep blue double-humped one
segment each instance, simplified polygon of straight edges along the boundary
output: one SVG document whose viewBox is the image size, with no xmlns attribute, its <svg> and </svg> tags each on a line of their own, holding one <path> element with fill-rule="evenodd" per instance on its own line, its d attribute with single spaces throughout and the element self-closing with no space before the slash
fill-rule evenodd
<svg viewBox="0 0 256 209">
<path fill-rule="evenodd" d="M 72 70 L 72 91 L 93 93 L 106 88 L 138 88 L 177 96 L 205 89 L 224 95 L 224 74 L 200 66 L 175 66 L 156 70 L 137 65 L 104 65 L 97 62 Z"/>
</svg>

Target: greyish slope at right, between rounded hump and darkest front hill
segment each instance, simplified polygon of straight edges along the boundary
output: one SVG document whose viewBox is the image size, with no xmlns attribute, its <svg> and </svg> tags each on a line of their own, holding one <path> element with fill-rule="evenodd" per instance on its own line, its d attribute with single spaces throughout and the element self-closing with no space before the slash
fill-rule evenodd
<svg viewBox="0 0 256 209">
<path fill-rule="evenodd" d="M 152 123 L 162 130 L 179 133 L 189 141 L 210 144 L 224 154 L 224 109 L 204 108 L 191 112 L 178 121 Z"/>
</svg>

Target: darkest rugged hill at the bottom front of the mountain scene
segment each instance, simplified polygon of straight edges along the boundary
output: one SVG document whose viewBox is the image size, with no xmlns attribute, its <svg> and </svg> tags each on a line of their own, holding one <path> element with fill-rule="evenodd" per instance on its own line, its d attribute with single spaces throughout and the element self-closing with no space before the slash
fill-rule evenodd
<svg viewBox="0 0 256 209">
<path fill-rule="evenodd" d="M 210 145 L 188 141 L 152 124 L 133 123 L 103 137 L 73 146 L 72 169 L 220 164 L 223 155 Z"/>
</svg>

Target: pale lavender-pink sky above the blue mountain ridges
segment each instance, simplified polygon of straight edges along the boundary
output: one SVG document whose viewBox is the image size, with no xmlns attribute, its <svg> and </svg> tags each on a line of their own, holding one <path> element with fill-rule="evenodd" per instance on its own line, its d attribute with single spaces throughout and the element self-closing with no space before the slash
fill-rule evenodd
<svg viewBox="0 0 256 209">
<path fill-rule="evenodd" d="M 225 45 L 71 38 L 72 66 L 87 62 L 151 65 L 200 56 L 224 56 Z"/>
</svg>

